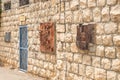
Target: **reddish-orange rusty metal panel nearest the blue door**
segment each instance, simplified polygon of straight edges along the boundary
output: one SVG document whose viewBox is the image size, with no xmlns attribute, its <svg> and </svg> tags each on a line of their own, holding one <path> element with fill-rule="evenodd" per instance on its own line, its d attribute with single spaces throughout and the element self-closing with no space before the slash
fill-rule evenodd
<svg viewBox="0 0 120 80">
<path fill-rule="evenodd" d="M 55 26 L 52 22 L 40 24 L 40 50 L 45 53 L 55 51 Z"/>
</svg>

